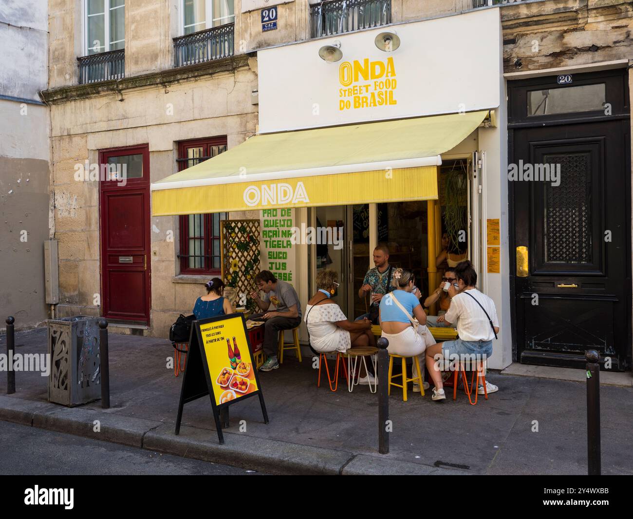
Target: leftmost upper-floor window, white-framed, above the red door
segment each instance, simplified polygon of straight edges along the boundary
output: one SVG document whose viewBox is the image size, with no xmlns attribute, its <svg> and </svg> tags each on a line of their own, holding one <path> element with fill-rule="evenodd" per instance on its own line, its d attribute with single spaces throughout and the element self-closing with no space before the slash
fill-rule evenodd
<svg viewBox="0 0 633 519">
<path fill-rule="evenodd" d="M 125 0 L 85 0 L 86 54 L 125 48 Z"/>
</svg>

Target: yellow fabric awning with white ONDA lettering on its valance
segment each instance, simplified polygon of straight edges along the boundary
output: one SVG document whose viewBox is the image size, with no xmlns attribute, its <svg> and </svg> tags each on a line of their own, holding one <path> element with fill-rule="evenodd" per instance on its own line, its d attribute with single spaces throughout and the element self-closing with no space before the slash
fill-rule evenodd
<svg viewBox="0 0 633 519">
<path fill-rule="evenodd" d="M 151 184 L 152 215 L 434 200 L 439 155 L 487 114 L 254 136 Z"/>
</svg>

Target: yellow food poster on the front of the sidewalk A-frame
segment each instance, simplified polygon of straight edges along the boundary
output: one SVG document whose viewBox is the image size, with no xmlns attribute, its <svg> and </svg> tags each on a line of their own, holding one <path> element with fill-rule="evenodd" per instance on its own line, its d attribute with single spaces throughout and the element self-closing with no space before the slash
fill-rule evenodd
<svg viewBox="0 0 633 519">
<path fill-rule="evenodd" d="M 254 363 L 241 314 L 200 325 L 215 403 L 219 406 L 257 391 Z"/>
</svg>

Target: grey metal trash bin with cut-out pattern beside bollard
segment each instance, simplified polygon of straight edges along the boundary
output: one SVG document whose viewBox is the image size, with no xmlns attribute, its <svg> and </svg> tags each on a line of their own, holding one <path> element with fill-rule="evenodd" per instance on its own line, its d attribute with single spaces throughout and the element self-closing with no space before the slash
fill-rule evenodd
<svg viewBox="0 0 633 519">
<path fill-rule="evenodd" d="M 100 317 L 48 319 L 48 400 L 78 406 L 101 398 Z"/>
</svg>

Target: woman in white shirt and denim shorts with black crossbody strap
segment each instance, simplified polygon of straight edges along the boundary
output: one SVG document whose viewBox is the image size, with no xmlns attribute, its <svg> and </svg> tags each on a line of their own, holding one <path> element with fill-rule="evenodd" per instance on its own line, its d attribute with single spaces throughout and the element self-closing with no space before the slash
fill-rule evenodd
<svg viewBox="0 0 633 519">
<path fill-rule="evenodd" d="M 455 355 L 470 358 L 473 354 L 479 354 L 487 359 L 492 355 L 492 339 L 499 333 L 499 319 L 494 301 L 477 290 L 477 272 L 470 261 L 460 262 L 454 272 L 457 281 L 448 290 L 451 305 L 444 314 L 444 321 L 447 326 L 457 324 L 459 338 L 427 348 L 427 369 L 435 385 L 432 400 L 446 399 L 440 371 L 442 366 L 440 362 L 436 362 L 437 359 L 451 359 Z M 496 385 L 486 380 L 487 393 L 498 390 Z M 477 392 L 480 395 L 484 394 L 484 386 L 480 385 Z"/>
</svg>

